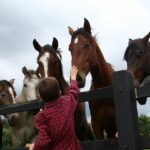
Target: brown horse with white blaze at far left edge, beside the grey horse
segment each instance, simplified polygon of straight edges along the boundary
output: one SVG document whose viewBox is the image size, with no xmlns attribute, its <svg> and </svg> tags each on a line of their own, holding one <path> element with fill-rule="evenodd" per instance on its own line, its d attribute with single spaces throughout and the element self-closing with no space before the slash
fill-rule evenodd
<svg viewBox="0 0 150 150">
<path fill-rule="evenodd" d="M 16 92 L 13 87 L 14 79 L 0 80 L 0 106 L 9 105 L 14 103 L 14 98 L 16 96 Z M 2 147 L 2 130 L 3 130 L 3 122 L 0 117 L 0 148 Z"/>
</svg>

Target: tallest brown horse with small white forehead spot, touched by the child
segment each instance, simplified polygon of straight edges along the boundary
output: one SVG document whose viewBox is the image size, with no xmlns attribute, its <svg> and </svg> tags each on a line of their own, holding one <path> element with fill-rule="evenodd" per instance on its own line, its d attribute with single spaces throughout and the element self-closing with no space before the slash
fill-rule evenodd
<svg viewBox="0 0 150 150">
<path fill-rule="evenodd" d="M 71 43 L 69 50 L 72 55 L 72 65 L 78 67 L 77 80 L 80 87 L 85 85 L 85 77 L 90 72 L 92 76 L 91 90 L 106 87 L 112 84 L 113 69 L 108 64 L 91 35 L 91 26 L 87 19 L 83 28 L 74 31 L 69 27 Z M 104 130 L 108 138 L 115 137 L 116 119 L 113 99 L 89 102 L 91 123 L 97 139 L 104 138 Z"/>
</svg>

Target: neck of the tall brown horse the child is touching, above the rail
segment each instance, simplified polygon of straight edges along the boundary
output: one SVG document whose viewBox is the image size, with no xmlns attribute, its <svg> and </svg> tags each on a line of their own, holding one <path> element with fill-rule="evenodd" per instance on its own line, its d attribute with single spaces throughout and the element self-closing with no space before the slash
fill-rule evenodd
<svg viewBox="0 0 150 150">
<path fill-rule="evenodd" d="M 96 53 L 98 60 L 97 64 L 91 68 L 91 76 L 94 88 L 101 88 L 111 85 L 113 69 L 111 68 L 111 65 L 106 62 L 98 45 L 96 48 Z"/>
</svg>

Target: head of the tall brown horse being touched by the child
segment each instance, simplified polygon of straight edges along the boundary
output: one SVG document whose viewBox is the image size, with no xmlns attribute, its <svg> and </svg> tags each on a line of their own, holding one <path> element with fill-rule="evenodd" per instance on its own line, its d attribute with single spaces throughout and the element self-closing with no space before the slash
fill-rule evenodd
<svg viewBox="0 0 150 150">
<path fill-rule="evenodd" d="M 74 31 L 68 27 L 71 35 L 69 50 L 72 56 L 72 65 L 78 67 L 77 80 L 79 87 L 85 86 L 85 77 L 90 70 L 97 64 L 97 44 L 91 35 L 91 26 L 87 19 L 84 19 L 82 28 Z"/>
</svg>

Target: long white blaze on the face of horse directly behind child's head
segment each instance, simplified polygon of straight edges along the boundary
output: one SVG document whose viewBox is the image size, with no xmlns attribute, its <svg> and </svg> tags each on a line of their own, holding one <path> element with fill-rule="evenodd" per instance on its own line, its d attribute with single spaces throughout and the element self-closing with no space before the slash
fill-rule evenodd
<svg viewBox="0 0 150 150">
<path fill-rule="evenodd" d="M 48 59 L 49 59 L 49 57 L 50 57 L 50 53 L 46 52 L 41 56 L 41 58 L 39 60 L 44 66 L 45 77 L 48 77 Z"/>
</svg>

